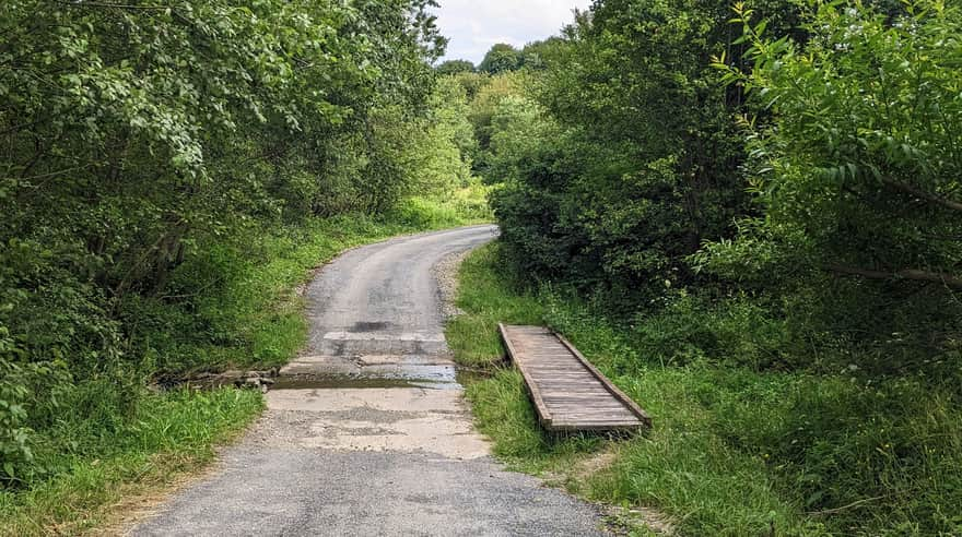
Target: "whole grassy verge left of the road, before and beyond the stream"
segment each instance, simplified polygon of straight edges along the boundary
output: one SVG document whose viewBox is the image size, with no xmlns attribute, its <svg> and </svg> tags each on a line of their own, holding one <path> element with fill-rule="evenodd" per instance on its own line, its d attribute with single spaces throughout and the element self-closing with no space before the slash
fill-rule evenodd
<svg viewBox="0 0 962 537">
<path fill-rule="evenodd" d="M 138 368 L 109 371 L 37 402 L 34 461 L 0 489 L 0 535 L 101 533 L 140 499 L 210 463 L 263 403 L 253 391 L 144 386 L 155 374 L 286 362 L 307 324 L 296 293 L 341 251 L 391 236 L 489 220 L 483 192 L 412 199 L 374 218 L 349 215 L 213 241 L 180 265 L 163 296 L 122 305 Z M 2 470 L 2 468 L 0 468 Z"/>
</svg>

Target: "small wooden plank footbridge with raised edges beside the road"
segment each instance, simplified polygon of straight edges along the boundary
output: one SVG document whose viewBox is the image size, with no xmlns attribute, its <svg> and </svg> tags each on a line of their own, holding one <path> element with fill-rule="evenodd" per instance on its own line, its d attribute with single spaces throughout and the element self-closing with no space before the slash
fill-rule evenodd
<svg viewBox="0 0 962 537">
<path fill-rule="evenodd" d="M 498 324 L 541 425 L 551 431 L 617 431 L 652 419 L 564 337 L 542 326 Z"/>
</svg>

